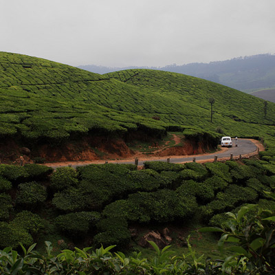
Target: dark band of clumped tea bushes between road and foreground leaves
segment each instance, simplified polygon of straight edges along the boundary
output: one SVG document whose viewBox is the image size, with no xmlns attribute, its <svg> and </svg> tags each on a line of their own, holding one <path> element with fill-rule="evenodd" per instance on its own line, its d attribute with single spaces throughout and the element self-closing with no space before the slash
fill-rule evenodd
<svg viewBox="0 0 275 275">
<path fill-rule="evenodd" d="M 74 243 L 131 250 L 140 237 L 130 234 L 135 225 L 221 226 L 225 212 L 243 203 L 272 210 L 275 203 L 265 192 L 275 190 L 275 153 L 261 152 L 261 158 L 204 165 L 146 162 L 143 170 L 132 164 L 55 171 L 1 164 L 0 247 L 47 239 L 56 249 Z"/>
</svg>

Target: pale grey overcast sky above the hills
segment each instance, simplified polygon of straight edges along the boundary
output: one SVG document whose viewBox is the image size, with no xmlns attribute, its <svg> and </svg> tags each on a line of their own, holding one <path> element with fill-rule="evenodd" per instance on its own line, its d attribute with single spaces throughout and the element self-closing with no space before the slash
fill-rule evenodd
<svg viewBox="0 0 275 275">
<path fill-rule="evenodd" d="M 0 0 L 0 51 L 73 66 L 275 53 L 275 0 Z"/>
</svg>

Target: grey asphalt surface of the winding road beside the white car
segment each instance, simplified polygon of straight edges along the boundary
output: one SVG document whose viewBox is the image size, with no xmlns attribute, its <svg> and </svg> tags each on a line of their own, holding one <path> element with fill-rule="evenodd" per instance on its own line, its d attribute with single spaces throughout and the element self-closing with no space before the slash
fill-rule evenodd
<svg viewBox="0 0 275 275">
<path fill-rule="evenodd" d="M 238 146 L 235 146 L 235 141 L 233 140 L 233 146 L 228 148 L 223 152 L 216 152 L 212 154 L 204 154 L 204 155 L 192 155 L 190 156 L 183 156 L 177 158 L 170 158 L 170 163 L 183 163 L 183 162 L 192 162 L 193 158 L 196 157 L 196 162 L 203 162 L 203 161 L 214 161 L 214 156 L 217 155 L 218 160 L 221 158 L 230 158 L 232 154 L 233 157 L 239 157 L 239 155 L 246 155 L 257 151 L 257 146 L 251 140 L 238 140 Z M 138 165 L 143 165 L 144 162 L 167 162 L 167 157 L 163 159 L 152 159 L 152 160 L 139 160 Z M 116 162 L 116 161 L 109 161 L 109 163 L 120 163 L 120 164 L 135 164 L 134 161 L 131 162 Z M 76 166 L 85 166 L 87 164 L 72 164 L 72 167 L 76 168 Z M 51 165 L 52 168 L 58 168 L 60 165 Z"/>
</svg>

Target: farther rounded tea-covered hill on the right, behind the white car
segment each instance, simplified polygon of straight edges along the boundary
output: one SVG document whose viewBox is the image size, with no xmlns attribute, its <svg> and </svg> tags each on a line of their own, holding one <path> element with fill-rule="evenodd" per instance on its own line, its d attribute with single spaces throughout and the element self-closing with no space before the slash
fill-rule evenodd
<svg viewBox="0 0 275 275">
<path fill-rule="evenodd" d="M 192 76 L 147 69 L 132 69 L 104 76 L 144 91 L 148 89 L 156 99 L 165 98 L 166 106 L 171 104 L 173 111 L 167 112 L 165 107 L 159 107 L 159 116 L 164 122 L 212 131 L 220 126 L 228 135 L 265 135 L 267 140 L 273 139 L 275 105 L 268 105 L 267 117 L 264 118 L 264 101 L 241 91 Z M 210 98 L 215 100 L 213 123 L 210 122 Z"/>
</svg>

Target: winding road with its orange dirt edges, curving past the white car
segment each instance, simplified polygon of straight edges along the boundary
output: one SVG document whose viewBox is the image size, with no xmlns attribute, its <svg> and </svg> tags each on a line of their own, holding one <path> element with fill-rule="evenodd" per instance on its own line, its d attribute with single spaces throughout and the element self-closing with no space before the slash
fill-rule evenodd
<svg viewBox="0 0 275 275">
<path fill-rule="evenodd" d="M 204 163 L 204 162 L 213 162 L 214 156 L 217 155 L 218 161 L 230 159 L 231 154 L 233 155 L 234 159 L 239 159 L 240 155 L 241 157 L 250 157 L 252 155 L 258 155 L 258 151 L 264 151 L 265 148 L 261 142 L 257 140 L 247 140 L 247 139 L 239 139 L 238 140 L 238 146 L 235 146 L 235 142 L 233 141 L 232 148 L 220 148 L 219 151 L 215 153 L 206 153 L 201 155 L 168 155 L 165 158 L 164 157 L 144 157 L 140 156 L 138 158 L 138 165 L 142 166 L 144 162 L 153 162 L 153 161 L 159 161 L 159 162 L 167 162 L 167 159 L 170 159 L 171 163 L 184 163 L 184 162 L 192 162 L 194 157 L 196 162 Z M 104 160 L 96 160 L 96 161 L 83 161 L 83 162 L 58 162 L 58 163 L 47 163 L 44 164 L 46 166 L 51 166 L 52 168 L 58 168 L 61 166 L 84 166 L 88 164 L 104 164 Z M 114 163 L 114 164 L 135 164 L 135 159 L 129 158 L 129 159 L 117 159 L 117 160 L 108 160 L 108 163 Z"/>
</svg>

